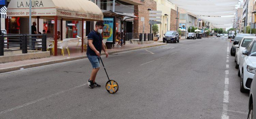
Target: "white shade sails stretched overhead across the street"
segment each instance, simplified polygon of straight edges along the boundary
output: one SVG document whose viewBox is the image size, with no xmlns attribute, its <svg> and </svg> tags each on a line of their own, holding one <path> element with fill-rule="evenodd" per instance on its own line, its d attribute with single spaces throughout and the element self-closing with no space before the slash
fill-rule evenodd
<svg viewBox="0 0 256 119">
<path fill-rule="evenodd" d="M 208 21 L 216 28 L 233 25 L 235 5 L 238 0 L 168 0 L 198 18 Z"/>
</svg>

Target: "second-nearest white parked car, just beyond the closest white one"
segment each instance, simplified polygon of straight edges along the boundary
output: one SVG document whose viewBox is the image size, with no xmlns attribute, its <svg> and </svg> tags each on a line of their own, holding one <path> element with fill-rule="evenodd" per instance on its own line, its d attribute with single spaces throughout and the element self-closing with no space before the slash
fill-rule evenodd
<svg viewBox="0 0 256 119">
<path fill-rule="evenodd" d="M 256 39 L 256 36 L 244 36 L 238 45 L 234 45 L 234 47 L 236 47 L 236 69 L 239 67 L 239 59 L 243 55 L 242 51 L 248 46 L 252 39 Z"/>
</svg>

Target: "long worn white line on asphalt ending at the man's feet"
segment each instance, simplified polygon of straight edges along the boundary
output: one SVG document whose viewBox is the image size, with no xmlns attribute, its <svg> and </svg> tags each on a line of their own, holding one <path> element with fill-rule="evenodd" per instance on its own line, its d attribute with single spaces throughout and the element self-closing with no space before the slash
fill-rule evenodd
<svg viewBox="0 0 256 119">
<path fill-rule="evenodd" d="M 42 97 L 42 98 L 40 98 L 40 99 L 31 101 L 31 102 L 28 102 L 28 103 L 25 103 L 25 104 L 22 104 L 22 105 L 19 105 L 19 106 L 10 108 L 10 109 L 7 109 L 7 110 L 5 110 L 5 111 L 0 112 L 0 115 L 1 115 L 1 114 L 4 114 L 4 113 L 11 112 L 11 111 L 13 111 L 13 110 L 15 110 L 15 109 L 18 109 L 18 108 L 22 108 L 22 107 L 24 107 L 24 106 L 28 106 L 28 105 L 33 104 L 33 103 L 36 103 L 36 102 L 42 101 L 42 100 L 44 100 L 44 99 L 51 98 L 51 97 L 53 97 L 53 96 L 57 96 L 57 95 L 59 95 L 59 94 L 62 94 L 63 92 L 67 92 L 67 91 L 70 91 L 70 90 L 73 90 L 73 89 L 82 87 L 82 86 L 84 86 L 84 85 L 87 85 L 87 83 L 82 84 L 82 85 L 79 85 L 79 86 L 75 86 L 75 87 L 73 87 L 73 88 L 69 88 L 69 89 L 67 89 L 67 90 L 62 90 L 62 91 L 57 92 L 57 93 L 55 93 L 55 94 L 52 94 L 52 95 L 49 95 L 49 96 L 46 96 L 46 97 Z"/>
</svg>

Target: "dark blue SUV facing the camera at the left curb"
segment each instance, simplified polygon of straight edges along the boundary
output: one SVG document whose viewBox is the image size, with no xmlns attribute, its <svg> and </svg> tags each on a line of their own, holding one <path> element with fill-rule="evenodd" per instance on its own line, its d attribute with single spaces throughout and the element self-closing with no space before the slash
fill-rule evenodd
<svg viewBox="0 0 256 119">
<path fill-rule="evenodd" d="M 163 43 L 165 43 L 165 41 L 168 42 L 180 42 L 180 36 L 179 33 L 177 31 L 167 31 L 165 34 L 163 34 Z"/>
</svg>

